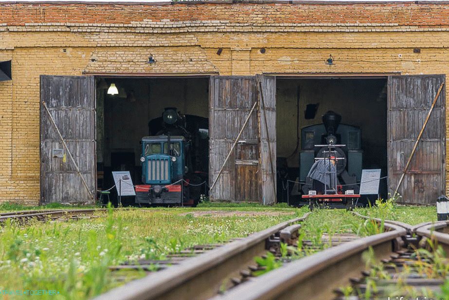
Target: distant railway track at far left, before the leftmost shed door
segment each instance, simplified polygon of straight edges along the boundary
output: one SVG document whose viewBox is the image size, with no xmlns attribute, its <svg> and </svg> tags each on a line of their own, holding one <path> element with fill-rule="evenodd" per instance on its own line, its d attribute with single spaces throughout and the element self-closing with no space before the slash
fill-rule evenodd
<svg viewBox="0 0 449 300">
<path fill-rule="evenodd" d="M 0 213 L 0 223 L 6 220 L 47 220 L 47 219 L 75 219 L 84 215 L 91 215 L 97 211 L 106 211 L 106 209 L 45 209 L 45 210 L 22 210 Z"/>
</svg>

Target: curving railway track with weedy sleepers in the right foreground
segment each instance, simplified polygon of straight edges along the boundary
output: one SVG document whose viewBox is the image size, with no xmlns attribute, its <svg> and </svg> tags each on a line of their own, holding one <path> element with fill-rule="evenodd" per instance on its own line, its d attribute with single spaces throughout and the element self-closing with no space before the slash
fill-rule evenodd
<svg viewBox="0 0 449 300">
<path fill-rule="evenodd" d="M 288 263 L 214 300 L 429 299 L 439 293 L 449 275 L 439 268 L 448 261 L 432 250 L 437 243 L 449 253 L 449 222 L 384 225 L 387 232 Z"/>
</svg>

